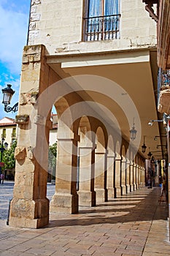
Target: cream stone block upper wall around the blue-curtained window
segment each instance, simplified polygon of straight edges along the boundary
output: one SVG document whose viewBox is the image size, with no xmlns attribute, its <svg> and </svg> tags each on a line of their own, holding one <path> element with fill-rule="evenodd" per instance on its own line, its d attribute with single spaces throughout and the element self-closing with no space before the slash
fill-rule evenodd
<svg viewBox="0 0 170 256">
<path fill-rule="evenodd" d="M 122 0 L 120 39 L 82 42 L 82 0 L 32 0 L 28 45 L 44 44 L 50 55 L 131 50 L 156 45 L 156 23 L 141 0 Z"/>
</svg>

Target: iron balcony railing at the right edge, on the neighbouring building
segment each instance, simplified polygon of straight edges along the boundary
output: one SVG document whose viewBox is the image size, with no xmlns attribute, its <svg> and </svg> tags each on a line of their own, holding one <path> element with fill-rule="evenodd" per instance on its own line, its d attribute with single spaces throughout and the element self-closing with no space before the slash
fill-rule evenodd
<svg viewBox="0 0 170 256">
<path fill-rule="evenodd" d="M 158 69 L 158 99 L 160 91 L 170 88 L 170 69 Z"/>
</svg>

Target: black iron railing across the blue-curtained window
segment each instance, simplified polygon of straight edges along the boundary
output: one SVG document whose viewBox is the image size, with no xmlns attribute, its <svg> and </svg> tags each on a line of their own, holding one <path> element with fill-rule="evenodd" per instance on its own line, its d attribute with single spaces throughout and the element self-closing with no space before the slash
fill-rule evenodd
<svg viewBox="0 0 170 256">
<path fill-rule="evenodd" d="M 84 18 L 84 40 L 98 41 L 120 37 L 120 14 Z"/>
</svg>

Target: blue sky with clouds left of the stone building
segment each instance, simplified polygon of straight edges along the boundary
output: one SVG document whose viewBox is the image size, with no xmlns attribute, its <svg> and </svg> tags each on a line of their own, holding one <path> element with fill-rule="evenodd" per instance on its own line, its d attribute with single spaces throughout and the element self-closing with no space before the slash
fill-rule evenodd
<svg viewBox="0 0 170 256">
<path fill-rule="evenodd" d="M 11 83 L 15 91 L 11 106 L 18 102 L 21 59 L 27 40 L 30 1 L 0 0 L 0 118 L 15 118 L 16 115 L 4 111 L 1 89 Z"/>
</svg>

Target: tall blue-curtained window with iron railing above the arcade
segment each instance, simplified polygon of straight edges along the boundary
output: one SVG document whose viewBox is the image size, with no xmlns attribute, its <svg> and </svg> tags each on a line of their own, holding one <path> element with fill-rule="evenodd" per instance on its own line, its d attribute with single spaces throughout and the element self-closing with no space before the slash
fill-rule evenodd
<svg viewBox="0 0 170 256">
<path fill-rule="evenodd" d="M 87 4 L 85 41 L 119 38 L 120 0 L 87 0 Z"/>
</svg>

